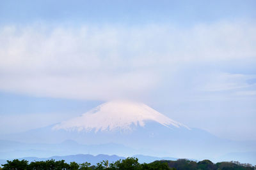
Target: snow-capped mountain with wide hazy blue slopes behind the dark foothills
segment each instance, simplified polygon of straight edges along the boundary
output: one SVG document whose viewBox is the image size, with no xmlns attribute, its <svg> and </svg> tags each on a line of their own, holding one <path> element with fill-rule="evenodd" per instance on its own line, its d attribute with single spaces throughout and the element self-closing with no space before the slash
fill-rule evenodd
<svg viewBox="0 0 256 170">
<path fill-rule="evenodd" d="M 104 103 L 80 117 L 8 134 L 2 139 L 19 141 L 1 141 L 2 159 L 79 153 L 125 157 L 143 154 L 198 160 L 225 157 L 227 160 L 250 160 L 254 164 L 255 154 L 246 153 L 256 150 L 253 141 L 217 138 L 209 132 L 176 122 L 146 104 L 131 101 Z"/>
</svg>

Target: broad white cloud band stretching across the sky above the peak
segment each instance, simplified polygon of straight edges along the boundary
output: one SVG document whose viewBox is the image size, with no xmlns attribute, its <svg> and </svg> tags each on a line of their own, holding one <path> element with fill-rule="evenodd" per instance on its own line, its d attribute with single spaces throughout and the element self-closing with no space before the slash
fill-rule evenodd
<svg viewBox="0 0 256 170">
<path fill-rule="evenodd" d="M 188 63 L 256 56 L 256 26 L 243 22 L 189 28 L 4 26 L 0 37 L 0 90 L 49 97 L 137 98 Z M 215 89 L 225 87 L 233 85 Z"/>
</svg>

